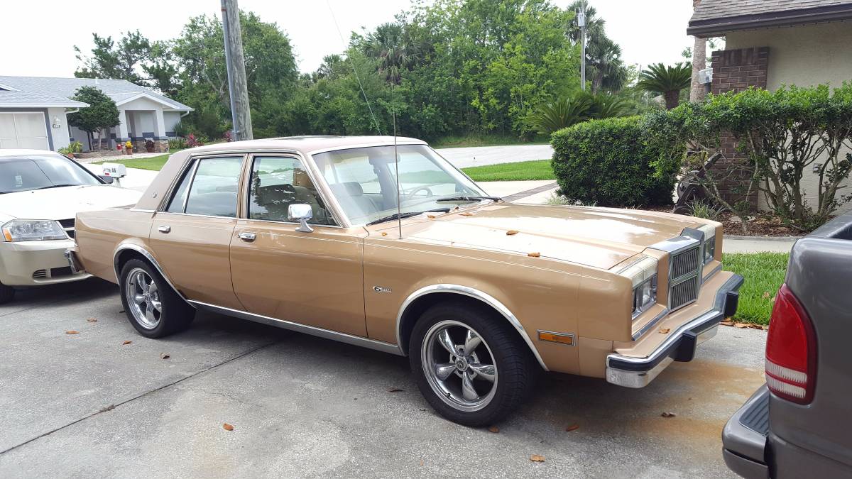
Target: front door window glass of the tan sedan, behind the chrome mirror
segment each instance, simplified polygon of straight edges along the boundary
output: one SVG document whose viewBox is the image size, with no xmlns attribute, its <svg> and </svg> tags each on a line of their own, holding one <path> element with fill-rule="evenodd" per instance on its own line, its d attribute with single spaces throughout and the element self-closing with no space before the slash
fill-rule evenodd
<svg viewBox="0 0 852 479">
<path fill-rule="evenodd" d="M 249 217 L 288 221 L 290 205 L 311 205 L 314 224 L 335 224 L 302 161 L 290 157 L 255 157 L 249 183 Z"/>
</svg>

